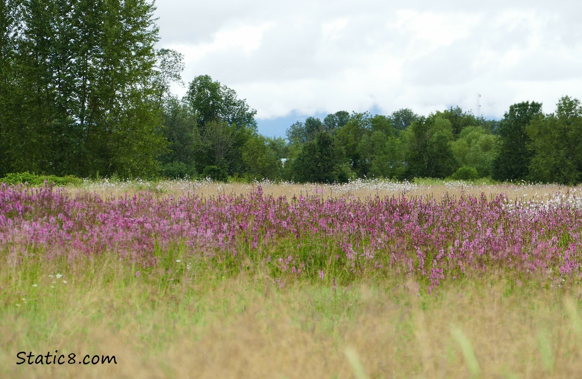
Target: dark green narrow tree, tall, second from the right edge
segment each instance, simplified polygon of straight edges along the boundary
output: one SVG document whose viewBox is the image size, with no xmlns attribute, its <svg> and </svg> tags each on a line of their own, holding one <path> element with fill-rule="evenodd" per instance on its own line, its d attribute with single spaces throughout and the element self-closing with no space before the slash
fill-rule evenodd
<svg viewBox="0 0 582 379">
<path fill-rule="evenodd" d="M 499 125 L 499 154 L 493 162 L 492 176 L 497 180 L 526 179 L 533 152 L 526 127 L 532 119 L 542 116 L 542 105 L 520 102 L 509 107 Z"/>
</svg>

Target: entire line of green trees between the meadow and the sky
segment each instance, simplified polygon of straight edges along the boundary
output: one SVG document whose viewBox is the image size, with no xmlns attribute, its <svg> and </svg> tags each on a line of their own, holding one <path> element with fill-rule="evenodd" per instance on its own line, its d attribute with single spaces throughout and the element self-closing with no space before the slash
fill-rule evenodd
<svg viewBox="0 0 582 379">
<path fill-rule="evenodd" d="M 563 96 L 502 120 L 459 107 L 420 116 L 332 113 L 258 133 L 256 110 L 201 75 L 178 98 L 183 56 L 155 49 L 147 0 L 0 0 L 0 176 L 378 177 L 582 181 L 582 108 Z"/>
</svg>

